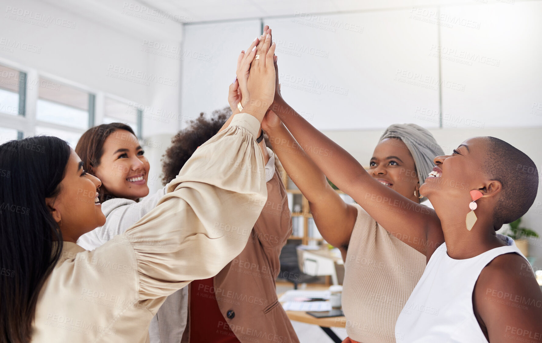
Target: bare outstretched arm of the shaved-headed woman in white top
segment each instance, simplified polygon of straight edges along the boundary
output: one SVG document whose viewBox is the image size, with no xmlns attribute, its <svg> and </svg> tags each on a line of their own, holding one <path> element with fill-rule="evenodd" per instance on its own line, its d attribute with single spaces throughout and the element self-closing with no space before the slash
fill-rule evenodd
<svg viewBox="0 0 542 343">
<path fill-rule="evenodd" d="M 435 211 L 380 184 L 356 159 L 309 124 L 278 94 L 270 108 L 320 170 L 386 230 L 429 258 L 444 242 Z"/>
</svg>

